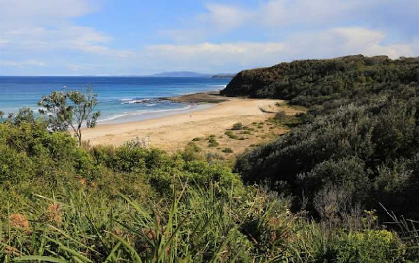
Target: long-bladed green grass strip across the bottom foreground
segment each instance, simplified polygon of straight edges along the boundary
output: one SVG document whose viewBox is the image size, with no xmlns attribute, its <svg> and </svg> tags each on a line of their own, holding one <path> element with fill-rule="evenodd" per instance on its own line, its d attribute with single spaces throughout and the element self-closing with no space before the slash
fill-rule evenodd
<svg viewBox="0 0 419 263">
<path fill-rule="evenodd" d="M 34 195 L 21 214 L 9 211 L 1 219 L 0 262 L 343 263 L 353 253 L 360 255 L 355 262 L 370 262 L 373 253 L 382 263 L 417 258 L 414 221 L 397 221 L 406 247 L 385 230 L 324 228 L 291 213 L 290 198 L 257 186 L 240 194 L 215 182 L 176 189 L 147 200 L 71 186 L 50 197 Z"/>
</svg>

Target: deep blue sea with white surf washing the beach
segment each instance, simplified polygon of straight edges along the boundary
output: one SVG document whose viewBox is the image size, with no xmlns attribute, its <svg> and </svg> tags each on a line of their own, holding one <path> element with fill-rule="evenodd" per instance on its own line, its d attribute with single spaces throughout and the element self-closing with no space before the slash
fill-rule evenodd
<svg viewBox="0 0 419 263">
<path fill-rule="evenodd" d="M 205 105 L 189 105 L 159 100 L 159 97 L 223 89 L 230 79 L 156 77 L 6 77 L 0 76 L 0 110 L 17 113 L 29 107 L 35 113 L 37 102 L 51 91 L 86 90 L 88 83 L 98 94 L 98 123 L 122 123 L 161 115 L 187 112 Z"/>
</svg>

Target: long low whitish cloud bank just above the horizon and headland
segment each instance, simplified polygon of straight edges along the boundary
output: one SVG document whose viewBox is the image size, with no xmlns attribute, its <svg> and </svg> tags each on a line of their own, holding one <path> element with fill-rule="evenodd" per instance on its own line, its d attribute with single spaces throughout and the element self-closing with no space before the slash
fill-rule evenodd
<svg viewBox="0 0 419 263">
<path fill-rule="evenodd" d="M 297 33 L 281 42 L 197 43 L 152 45 L 143 54 L 149 66 L 159 63 L 171 69 L 238 70 L 272 66 L 294 59 L 330 58 L 350 54 L 417 55 L 415 43 L 383 44 L 386 34 L 360 27 L 337 27 L 314 33 Z M 416 52 L 416 53 L 415 53 Z M 155 64 L 153 64 L 155 63 Z"/>
</svg>

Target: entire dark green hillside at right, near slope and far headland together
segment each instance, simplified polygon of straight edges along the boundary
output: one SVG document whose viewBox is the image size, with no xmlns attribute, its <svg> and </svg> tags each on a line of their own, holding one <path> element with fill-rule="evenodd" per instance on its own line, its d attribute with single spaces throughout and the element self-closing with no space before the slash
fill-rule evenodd
<svg viewBox="0 0 419 263">
<path fill-rule="evenodd" d="M 311 211 L 329 191 L 419 218 L 418 74 L 418 58 L 362 55 L 240 72 L 223 94 L 289 99 L 309 110 L 304 124 L 240 156 L 235 170 L 247 182 L 269 179 Z"/>
</svg>

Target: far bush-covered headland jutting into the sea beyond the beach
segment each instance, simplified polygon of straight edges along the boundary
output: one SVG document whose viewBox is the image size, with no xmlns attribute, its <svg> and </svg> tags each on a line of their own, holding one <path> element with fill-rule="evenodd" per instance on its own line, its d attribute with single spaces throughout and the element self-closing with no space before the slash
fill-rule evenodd
<svg viewBox="0 0 419 263">
<path fill-rule="evenodd" d="M 279 98 L 311 106 L 365 92 L 376 83 L 417 81 L 417 58 L 390 60 L 387 56 L 346 56 L 298 60 L 238 73 L 222 95 Z M 367 91 L 368 92 L 368 91 Z"/>
</svg>

